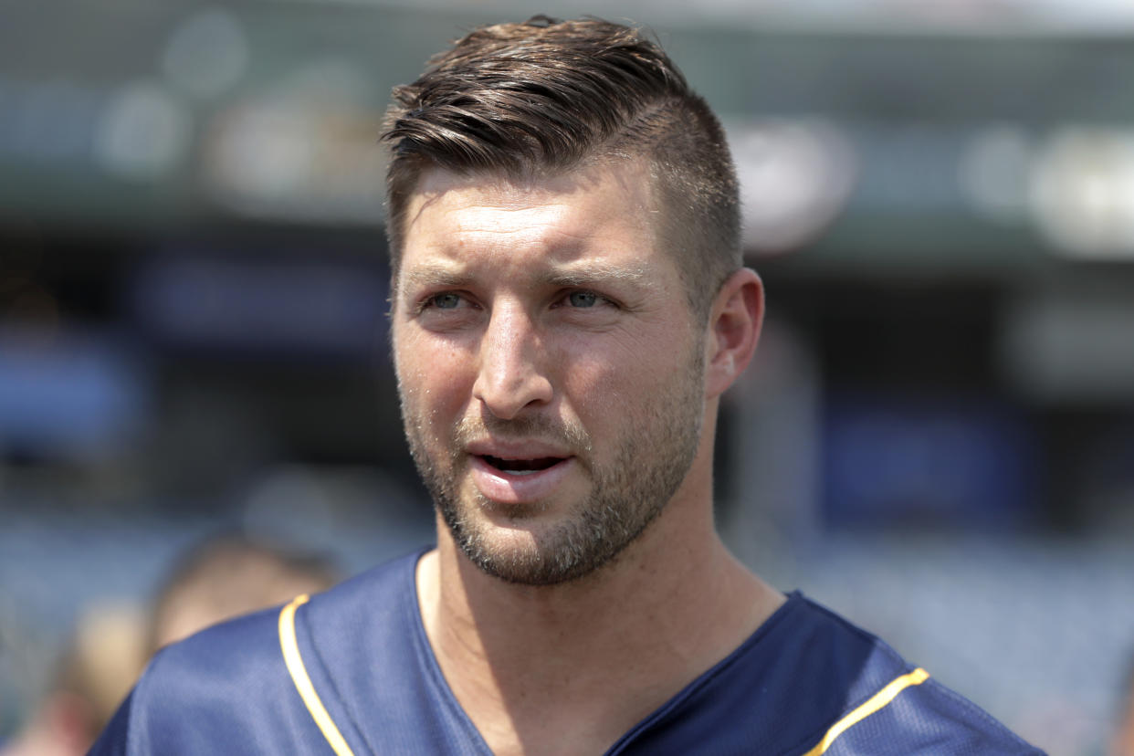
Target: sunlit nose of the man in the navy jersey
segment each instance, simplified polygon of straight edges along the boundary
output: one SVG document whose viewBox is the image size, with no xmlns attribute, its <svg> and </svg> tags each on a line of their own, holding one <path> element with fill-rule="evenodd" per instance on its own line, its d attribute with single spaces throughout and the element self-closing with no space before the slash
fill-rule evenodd
<svg viewBox="0 0 1134 756">
<path fill-rule="evenodd" d="M 552 389 L 542 367 L 544 357 L 543 345 L 523 308 L 493 308 L 481 340 L 473 397 L 501 419 L 513 419 L 528 406 L 550 402 Z"/>
</svg>

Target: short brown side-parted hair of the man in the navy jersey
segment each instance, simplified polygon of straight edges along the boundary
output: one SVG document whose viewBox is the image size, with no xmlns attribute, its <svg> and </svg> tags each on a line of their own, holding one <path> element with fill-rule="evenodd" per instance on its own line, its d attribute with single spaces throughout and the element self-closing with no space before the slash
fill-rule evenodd
<svg viewBox="0 0 1134 756">
<path fill-rule="evenodd" d="M 430 168 L 509 178 L 594 159 L 646 158 L 693 312 L 708 314 L 742 264 L 736 171 L 725 133 L 669 57 L 638 29 L 535 16 L 479 28 L 393 90 L 383 139 L 395 281 L 405 212 Z"/>
</svg>

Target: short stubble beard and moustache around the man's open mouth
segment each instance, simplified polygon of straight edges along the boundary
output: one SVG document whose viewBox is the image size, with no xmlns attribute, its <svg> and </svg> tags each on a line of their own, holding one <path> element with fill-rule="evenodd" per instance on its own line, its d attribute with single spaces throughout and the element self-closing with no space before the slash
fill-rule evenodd
<svg viewBox="0 0 1134 756">
<path fill-rule="evenodd" d="M 450 433 L 449 455 L 438 460 L 425 438 L 428 418 L 412 407 L 399 387 L 409 452 L 454 542 L 481 570 L 508 583 L 556 585 L 577 580 L 608 564 L 661 513 L 685 479 L 701 441 L 704 408 L 703 358 L 700 350 L 686 371 L 641 411 L 632 414 L 616 441 L 612 461 L 596 464 L 585 430 L 545 415 L 501 421 L 485 414 L 464 418 Z M 684 373 L 684 374 L 682 374 Z M 462 496 L 467 475 L 463 440 L 539 439 L 570 449 L 591 479 L 590 496 L 553 526 L 533 530 L 531 542 L 501 543 L 480 512 L 493 504 L 479 491 Z M 438 464 L 441 461 L 441 464 Z M 518 526 L 539 508 L 517 512 Z"/>
</svg>

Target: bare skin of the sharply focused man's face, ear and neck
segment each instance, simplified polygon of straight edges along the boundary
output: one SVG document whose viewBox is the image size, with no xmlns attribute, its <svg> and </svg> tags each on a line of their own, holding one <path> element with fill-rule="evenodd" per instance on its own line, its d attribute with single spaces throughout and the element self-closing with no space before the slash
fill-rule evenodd
<svg viewBox="0 0 1134 756">
<path fill-rule="evenodd" d="M 409 203 L 393 356 L 438 504 L 418 603 L 497 754 L 602 753 L 784 601 L 712 521 L 760 280 L 738 271 L 695 322 L 649 176 L 434 169 Z"/>
</svg>

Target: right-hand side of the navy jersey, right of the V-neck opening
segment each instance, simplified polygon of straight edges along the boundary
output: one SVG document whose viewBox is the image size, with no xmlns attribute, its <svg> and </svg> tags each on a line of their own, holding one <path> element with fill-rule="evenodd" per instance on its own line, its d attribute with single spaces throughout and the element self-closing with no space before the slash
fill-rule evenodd
<svg viewBox="0 0 1134 756">
<path fill-rule="evenodd" d="M 626 753 L 678 753 L 706 741 L 714 753 L 785 756 L 1040 753 L 799 594 L 655 714 Z"/>
</svg>

